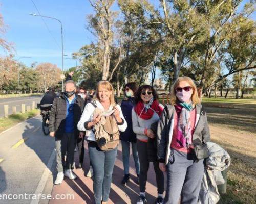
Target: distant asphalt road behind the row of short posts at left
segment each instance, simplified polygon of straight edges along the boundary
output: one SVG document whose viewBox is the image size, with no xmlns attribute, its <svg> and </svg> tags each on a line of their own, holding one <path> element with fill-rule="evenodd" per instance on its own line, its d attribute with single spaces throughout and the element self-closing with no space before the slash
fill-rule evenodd
<svg viewBox="0 0 256 204">
<path fill-rule="evenodd" d="M 0 117 L 4 117 L 4 105 L 9 105 L 8 115 L 12 114 L 12 107 L 16 106 L 17 113 L 22 111 L 22 104 L 25 104 L 26 110 L 27 106 L 32 108 L 32 101 L 35 101 L 35 107 L 37 103 L 40 103 L 41 96 L 28 96 L 28 97 L 18 97 L 18 98 L 3 98 L 0 99 Z"/>
</svg>

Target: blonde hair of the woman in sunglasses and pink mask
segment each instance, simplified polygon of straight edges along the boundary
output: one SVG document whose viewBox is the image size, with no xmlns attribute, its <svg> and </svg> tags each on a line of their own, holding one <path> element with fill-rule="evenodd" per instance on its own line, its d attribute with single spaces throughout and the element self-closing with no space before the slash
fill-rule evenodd
<svg viewBox="0 0 256 204">
<path fill-rule="evenodd" d="M 185 81 L 187 82 L 191 88 L 193 89 L 193 93 L 191 95 L 191 100 L 192 100 L 192 103 L 194 105 L 196 104 L 200 104 L 201 103 L 201 100 L 199 99 L 198 97 L 198 93 L 197 93 L 197 87 L 195 85 L 195 83 L 193 82 L 193 80 L 190 78 L 190 77 L 179 77 L 175 82 L 174 82 L 174 85 L 173 85 L 173 88 L 172 88 L 172 94 L 170 94 L 170 104 L 172 104 L 173 106 L 176 105 L 177 103 L 177 97 L 176 97 L 176 87 L 178 86 L 178 84 L 182 81 Z"/>
</svg>

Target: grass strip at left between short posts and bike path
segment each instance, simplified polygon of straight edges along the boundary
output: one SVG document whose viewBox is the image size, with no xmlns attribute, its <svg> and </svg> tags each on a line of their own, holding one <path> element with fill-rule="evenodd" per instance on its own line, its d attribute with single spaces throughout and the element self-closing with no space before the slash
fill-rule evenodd
<svg viewBox="0 0 256 204">
<path fill-rule="evenodd" d="M 9 115 L 8 118 L 0 118 L 0 133 L 9 127 L 14 126 L 15 124 L 32 118 L 40 113 L 39 109 L 30 110 L 26 113 L 17 113 Z"/>
</svg>

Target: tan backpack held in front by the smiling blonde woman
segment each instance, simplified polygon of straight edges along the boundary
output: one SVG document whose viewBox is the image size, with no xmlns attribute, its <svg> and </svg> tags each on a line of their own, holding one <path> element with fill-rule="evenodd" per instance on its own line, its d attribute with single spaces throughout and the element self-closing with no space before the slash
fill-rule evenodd
<svg viewBox="0 0 256 204">
<path fill-rule="evenodd" d="M 104 112 L 95 103 L 91 102 L 91 104 L 95 107 L 93 115 L 100 115 Z M 94 125 L 94 129 L 94 137 L 101 150 L 109 151 L 118 146 L 120 133 L 113 114 L 106 117 L 101 116 L 100 121 Z"/>
</svg>

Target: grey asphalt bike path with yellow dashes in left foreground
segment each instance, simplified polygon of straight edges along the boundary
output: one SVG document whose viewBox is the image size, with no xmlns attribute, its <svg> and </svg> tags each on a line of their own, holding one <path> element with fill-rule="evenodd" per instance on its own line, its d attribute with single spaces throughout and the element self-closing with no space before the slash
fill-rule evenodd
<svg viewBox="0 0 256 204">
<path fill-rule="evenodd" d="M 38 195 L 45 191 L 51 194 L 53 182 L 48 178 L 52 178 L 54 172 L 55 140 L 42 133 L 41 123 L 38 115 L 0 134 L 1 204 L 27 204 L 32 203 L 32 199 L 25 199 L 26 194 L 27 198 L 28 194 Z M 51 187 L 45 189 L 47 183 Z M 3 199 L 4 195 L 12 197 Z M 24 199 L 15 200 L 17 195 L 23 195 Z"/>
</svg>

